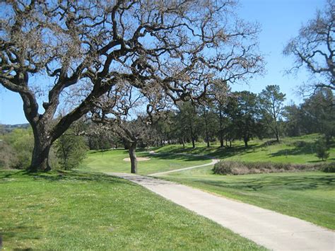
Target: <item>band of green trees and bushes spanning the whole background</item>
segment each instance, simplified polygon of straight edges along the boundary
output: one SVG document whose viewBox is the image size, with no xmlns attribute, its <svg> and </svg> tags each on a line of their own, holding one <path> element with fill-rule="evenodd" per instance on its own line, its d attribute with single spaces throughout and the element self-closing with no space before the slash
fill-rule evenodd
<svg viewBox="0 0 335 251">
<path fill-rule="evenodd" d="M 197 142 L 211 146 L 216 141 L 221 147 L 230 148 L 235 140 L 244 141 L 248 147 L 255 138 L 280 141 L 283 136 L 312 133 L 324 136 L 316 147 L 319 146 L 319 158 L 327 158 L 325 152 L 335 136 L 334 93 L 329 88 L 318 89 L 299 105 L 286 106 L 286 95 L 279 86 L 266 86 L 258 95 L 233 92 L 226 86 L 223 99 L 220 92 L 212 90 L 200 103 L 177 103 L 175 109 L 160 112 L 150 124 L 143 116 L 121 119 L 119 124 L 109 126 L 81 119 L 56 141 L 50 161 L 54 167 L 71 169 L 79 165 L 87 149 L 125 148 L 136 161 L 136 148 L 187 143 L 196 147 Z M 18 128 L 8 133 L 0 127 L 0 134 L 1 166 L 28 168 L 33 151 L 32 130 Z M 136 163 L 131 166 L 136 173 Z"/>
</svg>

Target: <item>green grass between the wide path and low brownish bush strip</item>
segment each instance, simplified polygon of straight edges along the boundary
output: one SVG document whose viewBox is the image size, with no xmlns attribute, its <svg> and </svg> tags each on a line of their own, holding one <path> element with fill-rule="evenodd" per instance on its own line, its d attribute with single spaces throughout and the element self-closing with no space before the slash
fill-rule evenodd
<svg viewBox="0 0 335 251">
<path fill-rule="evenodd" d="M 227 176 L 206 167 L 164 178 L 335 229 L 335 173 Z"/>
</svg>

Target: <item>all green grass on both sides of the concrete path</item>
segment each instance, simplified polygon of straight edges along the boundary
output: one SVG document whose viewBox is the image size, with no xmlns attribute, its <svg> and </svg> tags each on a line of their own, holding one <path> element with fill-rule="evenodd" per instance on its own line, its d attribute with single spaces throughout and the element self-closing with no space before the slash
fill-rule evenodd
<svg viewBox="0 0 335 251">
<path fill-rule="evenodd" d="M 316 134 L 252 141 L 249 148 L 156 148 L 138 151 L 139 173 L 147 175 L 209 163 L 207 154 L 245 161 L 315 163 Z M 328 161 L 334 161 L 332 147 Z M 260 250 L 245 238 L 197 216 L 147 189 L 101 172 L 129 173 L 127 151 L 90 151 L 81 171 L 39 173 L 0 170 L 0 235 L 4 250 Z M 95 171 L 100 173 L 83 173 Z M 261 206 L 335 229 L 335 174 L 271 173 L 213 175 L 211 166 L 165 175 L 165 179 Z"/>
</svg>

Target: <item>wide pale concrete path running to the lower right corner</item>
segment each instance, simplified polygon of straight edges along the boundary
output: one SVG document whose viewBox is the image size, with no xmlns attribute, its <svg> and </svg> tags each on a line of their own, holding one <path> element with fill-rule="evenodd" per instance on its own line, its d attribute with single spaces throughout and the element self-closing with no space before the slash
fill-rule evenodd
<svg viewBox="0 0 335 251">
<path fill-rule="evenodd" d="M 335 232 L 307 221 L 153 177 L 107 174 L 146 187 L 271 250 L 335 250 Z"/>
</svg>

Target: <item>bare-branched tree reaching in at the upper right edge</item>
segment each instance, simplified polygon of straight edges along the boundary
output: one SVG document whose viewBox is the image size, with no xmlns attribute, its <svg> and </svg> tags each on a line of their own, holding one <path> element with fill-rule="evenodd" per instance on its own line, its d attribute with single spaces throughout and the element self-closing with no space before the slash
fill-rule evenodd
<svg viewBox="0 0 335 251">
<path fill-rule="evenodd" d="M 299 35 L 288 42 L 283 53 L 295 57 L 295 65 L 289 72 L 302 66 L 319 76 L 314 88 L 335 90 L 335 4 L 328 0 L 323 11 L 317 11 L 314 19 L 300 28 Z"/>
</svg>

